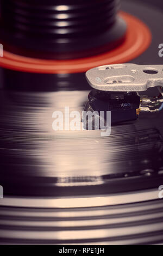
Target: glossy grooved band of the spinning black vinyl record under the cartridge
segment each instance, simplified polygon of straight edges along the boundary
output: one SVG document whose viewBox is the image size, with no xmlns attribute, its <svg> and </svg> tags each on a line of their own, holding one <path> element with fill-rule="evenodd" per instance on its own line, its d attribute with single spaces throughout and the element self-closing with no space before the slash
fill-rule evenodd
<svg viewBox="0 0 163 256">
<path fill-rule="evenodd" d="M 5 194 L 64 196 L 159 186 L 162 111 L 101 131 L 54 131 L 52 113 L 82 115 L 88 91 L 1 91 L 1 177 Z M 92 185 L 91 185 L 92 182 Z M 65 184 L 65 185 L 64 185 Z"/>
</svg>

